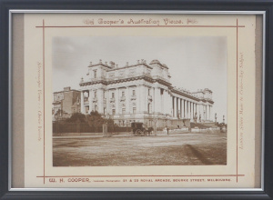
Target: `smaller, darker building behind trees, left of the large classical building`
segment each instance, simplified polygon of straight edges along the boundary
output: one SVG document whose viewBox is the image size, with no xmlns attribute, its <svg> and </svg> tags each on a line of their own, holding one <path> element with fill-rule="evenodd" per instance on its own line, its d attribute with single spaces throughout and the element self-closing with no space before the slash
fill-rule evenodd
<svg viewBox="0 0 273 200">
<path fill-rule="evenodd" d="M 53 93 L 52 114 L 70 117 L 81 112 L 81 92 L 65 87 L 63 91 Z"/>
</svg>

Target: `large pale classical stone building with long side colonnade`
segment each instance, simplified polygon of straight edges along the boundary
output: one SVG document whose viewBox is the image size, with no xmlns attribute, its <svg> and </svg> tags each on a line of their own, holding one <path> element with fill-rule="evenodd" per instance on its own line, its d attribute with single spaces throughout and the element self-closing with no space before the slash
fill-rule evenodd
<svg viewBox="0 0 273 200">
<path fill-rule="evenodd" d="M 112 117 L 117 125 L 183 126 L 212 121 L 212 91 L 180 89 L 170 83 L 167 65 L 145 60 L 118 67 L 114 62 L 88 65 L 81 79 L 81 112 Z"/>
</svg>

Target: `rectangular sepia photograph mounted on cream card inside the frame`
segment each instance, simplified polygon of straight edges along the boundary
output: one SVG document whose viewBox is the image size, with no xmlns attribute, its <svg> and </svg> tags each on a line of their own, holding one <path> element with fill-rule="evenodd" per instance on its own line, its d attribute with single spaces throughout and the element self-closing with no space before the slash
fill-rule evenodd
<svg viewBox="0 0 273 200">
<path fill-rule="evenodd" d="M 227 37 L 54 37 L 53 166 L 227 165 Z"/>
</svg>

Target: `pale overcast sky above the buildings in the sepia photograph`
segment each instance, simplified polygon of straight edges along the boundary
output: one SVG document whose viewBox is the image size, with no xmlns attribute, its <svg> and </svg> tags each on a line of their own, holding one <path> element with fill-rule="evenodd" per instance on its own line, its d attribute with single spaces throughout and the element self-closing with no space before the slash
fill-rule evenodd
<svg viewBox="0 0 273 200">
<path fill-rule="evenodd" d="M 78 89 L 89 63 L 96 64 L 99 59 L 103 63 L 113 61 L 119 67 L 126 62 L 133 65 L 145 59 L 149 64 L 157 59 L 169 67 L 174 86 L 190 92 L 212 90 L 217 121 L 222 122 L 223 115 L 227 116 L 226 37 L 54 37 L 53 91 L 66 86 Z"/>
</svg>

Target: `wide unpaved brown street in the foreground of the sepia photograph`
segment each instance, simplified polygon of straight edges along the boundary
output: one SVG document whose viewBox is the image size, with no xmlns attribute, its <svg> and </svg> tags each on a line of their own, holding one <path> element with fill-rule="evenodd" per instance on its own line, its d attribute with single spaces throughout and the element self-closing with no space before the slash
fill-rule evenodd
<svg viewBox="0 0 273 200">
<path fill-rule="evenodd" d="M 227 134 L 58 136 L 53 165 L 227 165 Z"/>
</svg>

